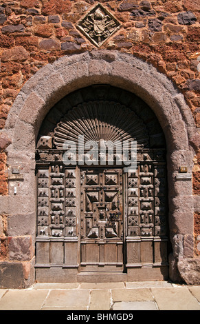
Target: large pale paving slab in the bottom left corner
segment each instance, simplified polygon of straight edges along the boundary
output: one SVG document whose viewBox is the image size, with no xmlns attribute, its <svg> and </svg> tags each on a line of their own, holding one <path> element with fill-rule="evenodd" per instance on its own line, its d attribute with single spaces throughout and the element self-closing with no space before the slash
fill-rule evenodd
<svg viewBox="0 0 200 324">
<path fill-rule="evenodd" d="M 0 299 L 0 310 L 41 310 L 48 290 L 9 290 Z"/>
</svg>

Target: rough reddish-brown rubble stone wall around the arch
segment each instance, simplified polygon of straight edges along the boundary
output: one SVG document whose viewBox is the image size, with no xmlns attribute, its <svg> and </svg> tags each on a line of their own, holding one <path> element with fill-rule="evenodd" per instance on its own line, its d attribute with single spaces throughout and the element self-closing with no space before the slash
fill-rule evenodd
<svg viewBox="0 0 200 324">
<path fill-rule="evenodd" d="M 0 1 L 0 195 L 8 195 L 6 148 L 10 138 L 3 133 L 3 128 L 14 99 L 26 81 L 44 65 L 66 54 L 90 52 L 96 48 L 76 26 L 98 2 L 121 23 L 121 28 L 100 49 L 133 54 L 166 74 L 184 94 L 197 128 L 200 128 L 198 0 Z M 190 145 L 196 152 L 192 176 L 193 195 L 198 202 L 200 143 L 197 136 Z M 199 255 L 199 211 L 196 203 L 195 256 Z M 2 213 L 0 261 L 17 259 L 19 249 L 19 254 L 23 252 L 24 256 L 19 272 L 28 276 L 26 264 L 29 263 L 26 262 L 33 258 L 31 237 L 21 238 L 15 234 L 14 242 L 8 222 L 9 215 Z"/>
</svg>

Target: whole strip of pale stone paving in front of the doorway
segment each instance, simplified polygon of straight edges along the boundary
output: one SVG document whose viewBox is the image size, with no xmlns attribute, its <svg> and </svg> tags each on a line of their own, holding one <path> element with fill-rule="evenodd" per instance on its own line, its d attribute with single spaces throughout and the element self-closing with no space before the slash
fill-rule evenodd
<svg viewBox="0 0 200 324">
<path fill-rule="evenodd" d="M 200 310 L 200 285 L 135 283 L 36 283 L 1 290 L 0 310 Z"/>
</svg>

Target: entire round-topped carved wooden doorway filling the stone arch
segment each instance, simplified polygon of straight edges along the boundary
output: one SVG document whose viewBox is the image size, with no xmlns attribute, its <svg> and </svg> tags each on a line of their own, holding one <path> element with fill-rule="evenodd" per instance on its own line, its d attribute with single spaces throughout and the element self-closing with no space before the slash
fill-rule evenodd
<svg viewBox="0 0 200 324">
<path fill-rule="evenodd" d="M 131 141 L 137 165 L 126 170 Z M 168 278 L 166 143 L 144 101 L 111 85 L 76 90 L 49 111 L 36 148 L 36 280 L 72 269 L 74 281 Z"/>
</svg>

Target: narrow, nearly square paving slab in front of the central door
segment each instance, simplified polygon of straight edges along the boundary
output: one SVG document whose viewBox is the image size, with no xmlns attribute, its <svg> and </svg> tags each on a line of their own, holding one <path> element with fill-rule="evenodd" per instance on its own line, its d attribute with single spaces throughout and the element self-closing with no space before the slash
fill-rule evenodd
<svg viewBox="0 0 200 324">
<path fill-rule="evenodd" d="M 92 290 L 89 310 L 110 310 L 109 290 Z"/>
</svg>

